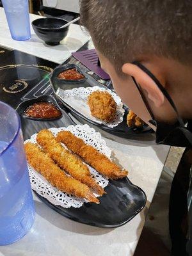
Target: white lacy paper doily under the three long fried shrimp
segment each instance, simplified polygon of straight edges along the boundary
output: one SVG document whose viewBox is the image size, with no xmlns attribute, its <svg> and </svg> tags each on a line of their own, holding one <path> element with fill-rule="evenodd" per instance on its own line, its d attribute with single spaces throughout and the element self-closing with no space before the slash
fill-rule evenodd
<svg viewBox="0 0 192 256">
<path fill-rule="evenodd" d="M 97 148 L 99 152 L 106 155 L 110 158 L 111 150 L 106 145 L 106 141 L 104 141 L 99 132 L 96 132 L 95 129 L 90 128 L 89 125 L 70 125 L 66 127 L 60 128 L 50 128 L 49 129 L 54 136 L 58 134 L 60 131 L 70 131 L 72 134 L 76 135 L 78 138 L 83 139 L 83 141 L 91 145 L 92 147 Z M 31 142 L 36 143 L 36 135 L 33 134 L 29 140 L 26 140 L 24 143 Z M 88 165 L 87 165 L 88 166 Z M 31 188 L 34 189 L 39 195 L 44 196 L 54 205 L 60 205 L 65 208 L 69 207 L 81 207 L 84 202 L 87 202 L 84 199 L 77 198 L 73 195 L 68 195 L 67 193 L 63 193 L 60 190 L 54 188 L 40 173 L 36 172 L 29 164 L 29 177 L 31 182 Z M 108 179 L 102 177 L 96 170 L 92 167 L 88 166 L 90 169 L 90 173 L 95 178 L 97 183 L 105 188 L 108 186 Z M 94 194 L 95 196 L 98 196 Z"/>
</svg>

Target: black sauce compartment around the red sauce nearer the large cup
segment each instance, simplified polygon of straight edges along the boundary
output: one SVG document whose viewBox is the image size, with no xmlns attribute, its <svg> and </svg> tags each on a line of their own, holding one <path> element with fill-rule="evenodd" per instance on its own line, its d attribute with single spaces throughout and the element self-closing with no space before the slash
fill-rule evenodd
<svg viewBox="0 0 192 256">
<path fill-rule="evenodd" d="M 45 121 L 53 121 L 53 120 L 60 119 L 63 116 L 62 112 L 61 112 L 60 116 L 57 116 L 57 117 L 54 117 L 54 118 L 38 118 L 38 117 L 26 116 L 25 115 L 26 109 L 28 109 L 29 106 L 31 106 L 31 105 L 33 105 L 33 104 L 35 104 L 37 102 L 51 102 L 61 112 L 61 109 L 60 109 L 60 106 L 58 105 L 58 102 L 51 95 L 42 95 L 40 97 L 37 97 L 36 99 L 31 99 L 31 100 L 26 100 L 24 102 L 21 102 L 16 110 L 19 113 L 19 115 L 22 115 L 22 118 L 27 118 L 27 119 L 31 119 L 31 120 L 35 120 L 35 121 L 43 121 L 43 122 L 45 122 Z"/>
</svg>

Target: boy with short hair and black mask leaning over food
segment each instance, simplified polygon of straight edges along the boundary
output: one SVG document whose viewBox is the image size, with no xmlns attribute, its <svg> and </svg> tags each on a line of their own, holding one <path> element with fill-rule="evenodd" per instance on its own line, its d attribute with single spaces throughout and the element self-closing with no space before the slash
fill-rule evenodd
<svg viewBox="0 0 192 256">
<path fill-rule="evenodd" d="M 116 93 L 156 131 L 157 143 L 186 147 L 172 184 L 170 235 L 173 255 L 192 255 L 192 1 L 81 0 L 80 5 L 81 23 Z"/>
</svg>

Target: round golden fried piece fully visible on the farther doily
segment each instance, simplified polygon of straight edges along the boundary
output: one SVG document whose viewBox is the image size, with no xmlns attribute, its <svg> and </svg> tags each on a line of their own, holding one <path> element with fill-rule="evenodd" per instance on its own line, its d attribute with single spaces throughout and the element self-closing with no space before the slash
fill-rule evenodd
<svg viewBox="0 0 192 256">
<path fill-rule="evenodd" d="M 116 102 L 108 92 L 95 91 L 88 96 L 92 116 L 110 122 L 115 118 Z"/>
</svg>

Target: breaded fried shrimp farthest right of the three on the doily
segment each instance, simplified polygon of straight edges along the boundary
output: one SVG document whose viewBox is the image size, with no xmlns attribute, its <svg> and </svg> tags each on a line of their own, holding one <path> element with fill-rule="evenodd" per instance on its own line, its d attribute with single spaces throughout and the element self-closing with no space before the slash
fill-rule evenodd
<svg viewBox="0 0 192 256">
<path fill-rule="evenodd" d="M 108 157 L 101 154 L 96 148 L 86 145 L 83 140 L 77 138 L 71 132 L 58 132 L 57 140 L 64 143 L 72 152 L 82 157 L 86 163 L 90 164 L 95 170 L 110 179 L 123 178 L 128 174 L 126 170 L 121 170 L 121 168 L 108 159 Z"/>
</svg>

